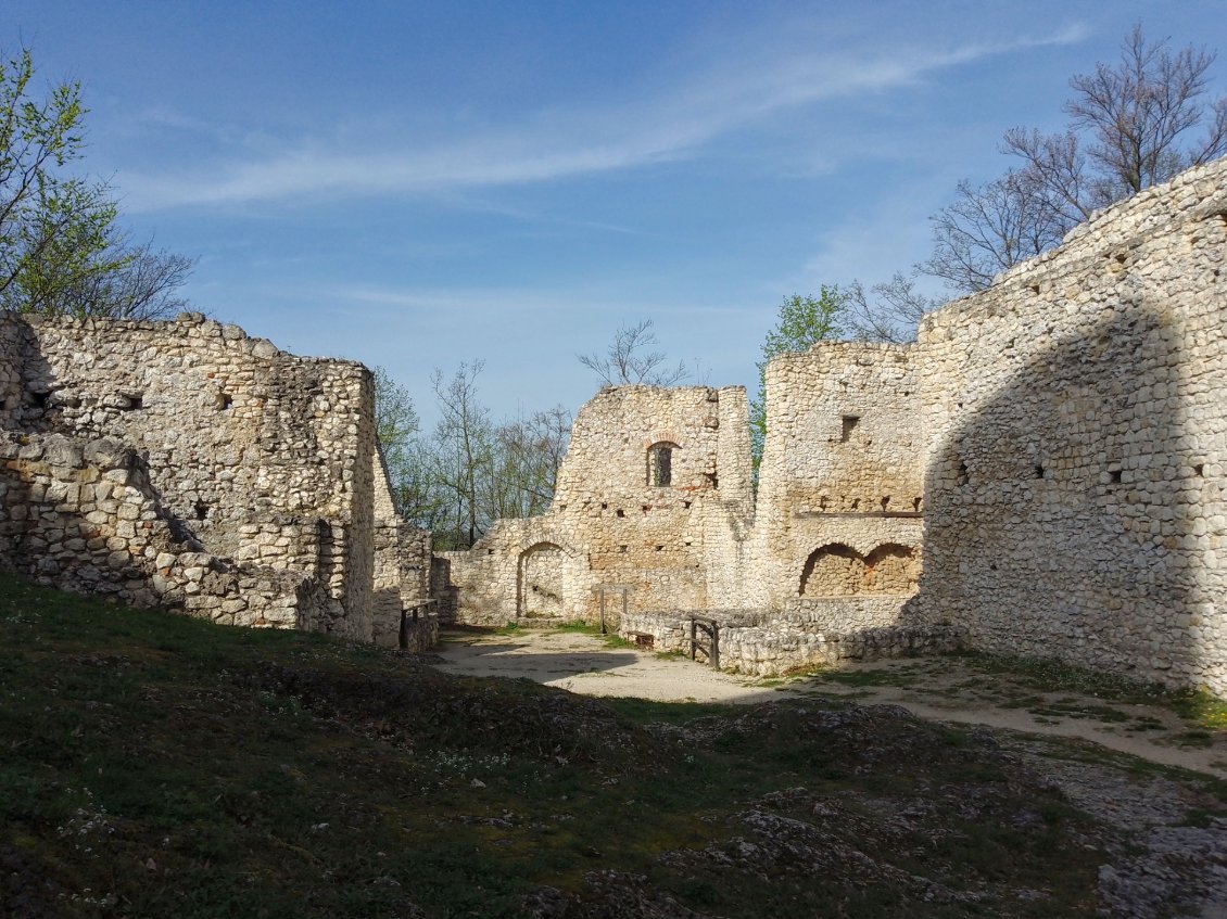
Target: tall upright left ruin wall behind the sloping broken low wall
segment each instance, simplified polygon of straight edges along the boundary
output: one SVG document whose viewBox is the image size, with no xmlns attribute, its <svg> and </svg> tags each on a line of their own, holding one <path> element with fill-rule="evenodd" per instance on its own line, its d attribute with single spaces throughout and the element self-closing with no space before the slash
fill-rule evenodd
<svg viewBox="0 0 1227 919">
<path fill-rule="evenodd" d="M 169 323 L 0 314 L 0 358 L 5 428 L 27 439 L 60 435 L 79 451 L 99 439 L 130 447 L 152 502 L 142 513 L 168 528 L 168 554 L 204 554 L 227 570 L 288 572 L 296 584 L 310 582 L 291 589 L 280 578 L 286 603 L 298 610 L 293 624 L 373 637 L 375 531 L 396 522 L 377 520 L 377 484 L 387 483 L 362 365 L 283 354 L 199 314 Z M 22 482 L 42 474 L 9 472 Z M 16 553 L 9 564 L 26 564 L 38 544 L 25 546 L 9 548 Z M 144 555 L 139 548 L 134 555 Z M 240 591 L 239 582 L 227 583 Z M 242 599 L 155 593 L 213 618 Z M 290 594 L 310 599 L 303 605 Z M 269 621 L 290 624 L 285 615 Z"/>
</svg>

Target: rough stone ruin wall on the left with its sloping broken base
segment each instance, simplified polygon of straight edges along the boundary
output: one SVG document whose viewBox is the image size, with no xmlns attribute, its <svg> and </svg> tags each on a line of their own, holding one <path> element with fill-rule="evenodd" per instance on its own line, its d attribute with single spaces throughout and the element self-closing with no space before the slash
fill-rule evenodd
<svg viewBox="0 0 1227 919">
<path fill-rule="evenodd" d="M 283 354 L 199 314 L 171 323 L 0 314 L 0 419 L 10 453 L 16 445 L 0 564 L 223 621 L 375 636 L 375 533 L 402 523 L 390 504 L 377 511 L 377 483 L 387 484 L 360 364 Z M 91 446 L 101 442 L 113 447 Z M 48 444 L 56 462 L 43 460 Z M 107 467 L 112 455 L 126 466 Z M 103 496 L 106 482 L 131 500 Z M 131 534 L 134 521 L 148 532 Z M 48 534 L 67 551 L 48 555 Z M 422 538 L 394 555 L 378 588 L 416 570 L 412 592 L 425 592 Z M 218 575 L 209 589 L 174 578 L 201 567 Z M 253 584 L 277 599 L 249 598 Z"/>
</svg>

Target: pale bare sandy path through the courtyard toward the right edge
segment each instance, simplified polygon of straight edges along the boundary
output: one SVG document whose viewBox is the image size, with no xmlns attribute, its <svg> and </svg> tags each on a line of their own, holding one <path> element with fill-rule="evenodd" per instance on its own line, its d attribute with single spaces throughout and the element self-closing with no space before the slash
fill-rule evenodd
<svg viewBox="0 0 1227 919">
<path fill-rule="evenodd" d="M 858 686 L 800 679 L 780 685 L 717 673 L 710 668 L 665 658 L 633 648 L 610 648 L 601 638 L 557 631 L 524 630 L 515 635 L 482 631 L 447 631 L 438 647 L 440 670 L 474 676 L 525 678 L 585 696 L 631 696 L 658 702 L 724 702 L 752 705 L 788 697 L 849 698 L 859 703 L 903 706 L 921 718 L 983 724 L 990 728 L 1049 736 L 1090 740 L 1118 752 L 1180 766 L 1227 778 L 1227 732 L 1184 739 L 1196 725 L 1157 706 L 1120 706 L 1129 722 L 1096 720 L 1086 717 L 1034 714 L 1026 707 L 998 705 L 968 684 L 957 660 L 935 659 L 930 674 L 912 686 Z M 853 664 L 849 669 L 882 670 L 910 668 L 915 662 Z M 1050 701 L 1066 706 L 1079 702 L 1070 694 L 1049 694 Z M 1091 706 L 1102 700 L 1082 698 Z M 1136 727 L 1148 727 L 1140 733 Z M 1202 732 L 1202 734 L 1205 734 Z"/>
</svg>

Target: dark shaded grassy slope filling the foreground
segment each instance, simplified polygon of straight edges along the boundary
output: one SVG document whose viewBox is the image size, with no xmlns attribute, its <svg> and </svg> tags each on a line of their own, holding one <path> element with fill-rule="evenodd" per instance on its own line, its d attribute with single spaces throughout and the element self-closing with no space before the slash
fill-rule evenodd
<svg viewBox="0 0 1227 919">
<path fill-rule="evenodd" d="M 0 915 L 1085 915 L 1112 844 L 890 711 L 596 702 L 5 575 L 0 649 Z"/>
</svg>

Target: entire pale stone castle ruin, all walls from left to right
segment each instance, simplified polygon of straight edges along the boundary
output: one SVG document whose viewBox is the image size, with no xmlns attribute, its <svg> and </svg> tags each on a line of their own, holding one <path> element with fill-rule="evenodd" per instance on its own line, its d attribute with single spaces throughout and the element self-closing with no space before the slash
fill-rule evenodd
<svg viewBox="0 0 1227 919">
<path fill-rule="evenodd" d="M 447 621 L 604 616 L 656 649 L 703 614 L 747 673 L 968 647 L 1227 695 L 1225 255 L 1218 161 L 914 344 L 773 360 L 757 495 L 742 388 L 607 387 L 547 513 L 433 559 L 361 365 L 196 314 L 4 315 L 0 564 L 385 645 L 429 593 Z"/>
</svg>

